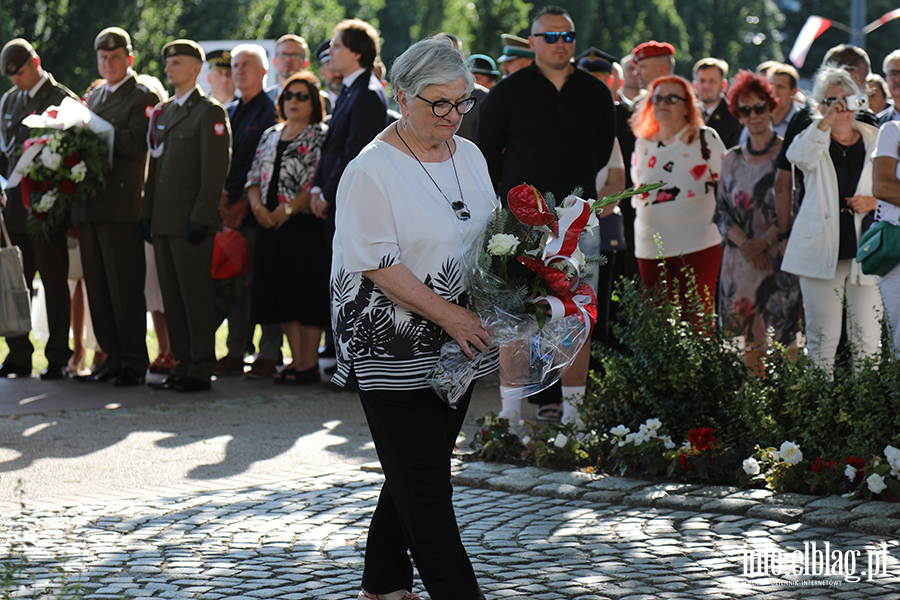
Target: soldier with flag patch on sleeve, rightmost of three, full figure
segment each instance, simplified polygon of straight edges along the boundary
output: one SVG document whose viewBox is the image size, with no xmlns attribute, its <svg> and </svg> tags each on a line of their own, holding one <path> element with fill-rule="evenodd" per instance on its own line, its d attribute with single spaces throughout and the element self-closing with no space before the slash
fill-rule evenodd
<svg viewBox="0 0 900 600">
<path fill-rule="evenodd" d="M 154 389 L 211 388 L 216 364 L 213 238 L 231 162 L 231 126 L 222 105 L 197 87 L 203 50 L 191 40 L 163 47 L 175 95 L 150 120 L 150 172 L 141 234 L 153 244 L 172 353 L 178 366 Z"/>
</svg>

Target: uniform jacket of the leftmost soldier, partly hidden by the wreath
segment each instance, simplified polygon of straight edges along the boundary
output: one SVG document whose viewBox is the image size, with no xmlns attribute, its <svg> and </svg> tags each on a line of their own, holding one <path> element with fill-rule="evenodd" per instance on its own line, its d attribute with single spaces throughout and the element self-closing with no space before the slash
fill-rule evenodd
<svg viewBox="0 0 900 600">
<path fill-rule="evenodd" d="M 39 115 L 50 106 L 59 106 L 66 96 L 80 101 L 69 88 L 58 84 L 50 73 L 46 75 L 47 81 L 44 82 L 41 89 L 37 91 L 34 98 L 29 97 L 25 106 L 19 110 L 15 110 L 18 88 L 13 87 L 8 90 L 0 99 L 0 146 L 3 150 L 0 152 L 0 172 L 7 179 L 12 175 L 12 170 L 22 154 L 22 145 L 29 138 L 30 130 L 27 126 L 22 125 L 22 119 L 28 115 Z M 28 213 L 22 206 L 19 187 L 6 190 L 6 194 L 7 203 L 3 210 L 6 226 L 12 232 L 22 233 L 25 231 L 25 218 Z"/>
</svg>

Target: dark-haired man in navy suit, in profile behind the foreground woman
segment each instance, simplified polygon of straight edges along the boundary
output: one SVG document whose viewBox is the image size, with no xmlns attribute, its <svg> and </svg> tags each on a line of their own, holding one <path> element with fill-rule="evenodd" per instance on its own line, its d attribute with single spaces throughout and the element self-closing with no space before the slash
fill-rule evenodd
<svg viewBox="0 0 900 600">
<path fill-rule="evenodd" d="M 378 32 L 365 21 L 347 19 L 334 28 L 328 51 L 329 67 L 343 75 L 344 87 L 328 121 L 328 136 L 310 201 L 313 212 L 319 218 L 328 218 L 332 230 L 331 204 L 347 163 L 387 125 L 387 97 L 381 82 L 372 73 L 379 51 Z"/>
</svg>

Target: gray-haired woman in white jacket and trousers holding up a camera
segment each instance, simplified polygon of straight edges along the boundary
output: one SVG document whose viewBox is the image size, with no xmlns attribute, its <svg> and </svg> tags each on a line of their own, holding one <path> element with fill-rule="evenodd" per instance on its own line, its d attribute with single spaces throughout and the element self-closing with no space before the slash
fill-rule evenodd
<svg viewBox="0 0 900 600">
<path fill-rule="evenodd" d="M 800 276 L 806 304 L 809 356 L 834 365 L 843 303 L 847 332 L 858 351 L 878 350 L 881 297 L 876 278 L 863 275 L 856 250 L 874 219 L 872 156 L 878 129 L 854 119 L 860 90 L 844 69 L 816 73 L 812 99 L 819 115 L 791 143 L 787 158 L 806 176 L 806 195 L 794 220 L 781 268 Z"/>
</svg>

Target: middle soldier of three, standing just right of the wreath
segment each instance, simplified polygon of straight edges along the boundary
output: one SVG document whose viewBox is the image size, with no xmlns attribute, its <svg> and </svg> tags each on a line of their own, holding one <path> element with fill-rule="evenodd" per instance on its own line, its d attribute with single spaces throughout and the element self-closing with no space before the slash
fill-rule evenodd
<svg viewBox="0 0 900 600">
<path fill-rule="evenodd" d="M 138 221 L 147 175 L 147 124 L 162 98 L 138 83 L 131 69 L 131 37 L 123 29 L 104 29 L 94 40 L 97 68 L 106 83 L 87 103 L 115 128 L 113 166 L 106 188 L 72 207 L 78 225 L 81 264 L 97 342 L 106 362 L 80 381 L 144 382 L 147 316 L 144 300 L 144 244 Z"/>
</svg>

